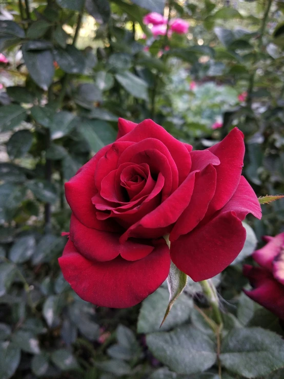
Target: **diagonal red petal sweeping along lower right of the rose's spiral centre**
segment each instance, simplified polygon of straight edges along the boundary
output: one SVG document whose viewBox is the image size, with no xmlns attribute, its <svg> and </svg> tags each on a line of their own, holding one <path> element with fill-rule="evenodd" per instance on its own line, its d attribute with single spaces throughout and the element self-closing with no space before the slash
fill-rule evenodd
<svg viewBox="0 0 284 379">
<path fill-rule="evenodd" d="M 178 189 L 174 191 L 163 203 L 161 203 L 152 212 L 146 214 L 136 224 L 132 225 L 121 236 L 121 242 L 126 241 L 127 238 L 132 235 L 136 235 L 136 229 L 144 228 L 145 235 L 147 235 L 147 230 L 149 229 L 165 228 L 175 223 L 190 202 L 196 173 L 196 171 L 191 172 L 186 180 L 178 187 Z"/>
</svg>

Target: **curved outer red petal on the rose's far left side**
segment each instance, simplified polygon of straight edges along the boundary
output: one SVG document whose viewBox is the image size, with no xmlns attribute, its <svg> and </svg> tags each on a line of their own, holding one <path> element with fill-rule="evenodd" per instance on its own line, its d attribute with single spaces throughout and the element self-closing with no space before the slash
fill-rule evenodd
<svg viewBox="0 0 284 379">
<path fill-rule="evenodd" d="M 94 181 L 94 172 L 99 159 L 109 149 L 109 146 L 99 152 L 86 165 L 79 169 L 75 176 L 65 184 L 65 195 L 72 212 L 78 220 L 89 228 L 115 231 L 116 223 L 113 221 L 102 222 L 97 220 L 92 197 L 97 193 Z"/>
</svg>

